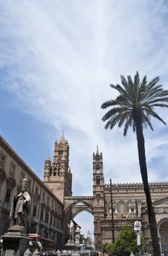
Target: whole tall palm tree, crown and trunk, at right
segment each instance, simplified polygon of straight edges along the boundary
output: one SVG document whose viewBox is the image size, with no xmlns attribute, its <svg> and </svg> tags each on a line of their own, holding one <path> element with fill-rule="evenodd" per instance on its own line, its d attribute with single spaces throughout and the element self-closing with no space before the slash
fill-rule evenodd
<svg viewBox="0 0 168 256">
<path fill-rule="evenodd" d="M 134 80 L 132 80 L 130 75 L 128 75 L 127 78 L 121 75 L 121 85 L 110 85 L 112 89 L 116 89 L 119 92 L 119 96 L 101 105 L 103 109 L 111 108 L 102 118 L 103 121 L 107 121 L 105 129 L 113 129 L 116 124 L 121 127 L 122 124 L 124 124 L 124 136 L 127 135 L 129 127 L 132 127 L 133 131 L 136 132 L 140 173 L 148 207 L 148 219 L 154 256 L 160 255 L 160 246 L 151 192 L 148 184 L 143 127 L 149 126 L 153 130 L 151 117 L 157 118 L 165 124 L 164 120 L 154 111 L 154 107 L 168 108 L 168 91 L 162 89 L 162 86 L 157 84 L 158 82 L 159 77 L 156 77 L 148 83 L 146 76 L 140 82 L 138 72 Z"/>
</svg>

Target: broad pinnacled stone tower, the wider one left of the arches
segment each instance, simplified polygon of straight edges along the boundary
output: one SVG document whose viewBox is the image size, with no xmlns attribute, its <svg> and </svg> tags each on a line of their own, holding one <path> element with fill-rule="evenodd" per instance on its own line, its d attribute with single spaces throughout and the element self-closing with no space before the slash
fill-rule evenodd
<svg viewBox="0 0 168 256">
<path fill-rule="evenodd" d="M 47 157 L 44 164 L 44 184 L 63 203 L 65 196 L 72 195 L 72 173 L 69 166 L 69 145 L 64 135 L 55 141 L 54 162 Z"/>
</svg>

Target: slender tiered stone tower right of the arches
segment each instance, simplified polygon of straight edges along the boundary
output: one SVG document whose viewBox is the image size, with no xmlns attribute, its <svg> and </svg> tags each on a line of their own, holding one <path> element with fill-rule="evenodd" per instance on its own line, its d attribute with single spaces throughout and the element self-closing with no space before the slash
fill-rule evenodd
<svg viewBox="0 0 168 256">
<path fill-rule="evenodd" d="M 95 249 L 102 249 L 101 219 L 104 218 L 104 176 L 103 176 L 103 155 L 93 153 L 93 215 Z"/>
</svg>

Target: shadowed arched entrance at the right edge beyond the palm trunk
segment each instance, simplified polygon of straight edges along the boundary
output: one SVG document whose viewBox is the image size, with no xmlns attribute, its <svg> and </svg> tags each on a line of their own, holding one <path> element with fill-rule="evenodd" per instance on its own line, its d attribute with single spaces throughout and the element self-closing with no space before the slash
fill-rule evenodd
<svg viewBox="0 0 168 256">
<path fill-rule="evenodd" d="M 159 225 L 159 234 L 161 240 L 161 251 L 168 252 L 168 218 L 162 219 Z"/>
</svg>

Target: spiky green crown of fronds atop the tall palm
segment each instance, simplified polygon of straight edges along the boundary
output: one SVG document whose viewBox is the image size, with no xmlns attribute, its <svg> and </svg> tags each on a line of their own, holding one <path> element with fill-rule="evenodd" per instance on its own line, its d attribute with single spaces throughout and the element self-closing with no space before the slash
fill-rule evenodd
<svg viewBox="0 0 168 256">
<path fill-rule="evenodd" d="M 133 132 L 137 127 L 137 116 L 140 113 L 140 122 L 143 127 L 149 126 L 152 130 L 151 117 L 157 118 L 163 124 L 164 120 L 154 111 L 154 108 L 168 108 L 168 90 L 164 90 L 158 84 L 159 77 L 153 78 L 149 83 L 146 76 L 140 81 L 139 73 L 136 72 L 134 79 L 130 75 L 127 78 L 121 75 L 121 85 L 111 84 L 111 88 L 118 91 L 116 99 L 103 102 L 101 108 L 111 108 L 103 116 L 102 120 L 107 121 L 105 129 L 113 129 L 118 124 L 124 125 L 124 136 L 127 135 L 129 127 Z"/>
</svg>

